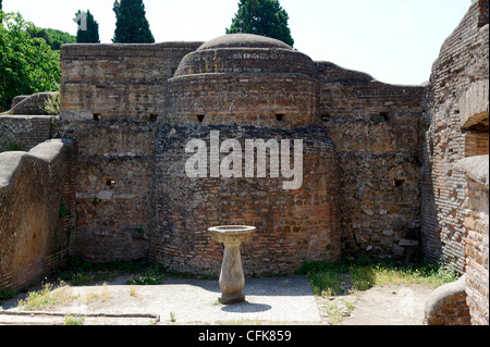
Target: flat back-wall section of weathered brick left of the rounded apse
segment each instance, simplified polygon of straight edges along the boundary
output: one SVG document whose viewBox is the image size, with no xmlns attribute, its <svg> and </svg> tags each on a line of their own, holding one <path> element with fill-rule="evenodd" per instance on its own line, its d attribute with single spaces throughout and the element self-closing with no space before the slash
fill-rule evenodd
<svg viewBox="0 0 490 347">
<path fill-rule="evenodd" d="M 62 47 L 61 129 L 78 141 L 77 251 L 85 258 L 148 257 L 155 122 L 167 79 L 199 45 Z"/>
</svg>

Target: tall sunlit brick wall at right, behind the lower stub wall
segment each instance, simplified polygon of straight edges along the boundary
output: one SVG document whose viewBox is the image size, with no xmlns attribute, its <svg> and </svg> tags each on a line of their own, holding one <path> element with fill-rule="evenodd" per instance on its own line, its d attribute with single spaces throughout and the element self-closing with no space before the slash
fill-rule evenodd
<svg viewBox="0 0 490 347">
<path fill-rule="evenodd" d="M 452 263 L 460 273 L 465 267 L 465 177 L 453 165 L 467 156 L 488 154 L 489 26 L 479 22 L 483 2 L 474 2 L 444 41 L 426 96 L 422 250 L 426 259 Z"/>
</svg>

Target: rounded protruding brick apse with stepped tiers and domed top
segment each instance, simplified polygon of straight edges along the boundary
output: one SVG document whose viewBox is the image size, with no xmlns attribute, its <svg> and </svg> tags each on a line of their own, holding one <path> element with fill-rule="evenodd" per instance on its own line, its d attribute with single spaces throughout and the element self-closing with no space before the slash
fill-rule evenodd
<svg viewBox="0 0 490 347">
<path fill-rule="evenodd" d="M 221 245 L 208 227 L 236 223 L 257 227 L 243 245 L 248 275 L 339 259 L 339 166 L 328 134 L 315 125 L 319 83 L 311 59 L 280 41 L 225 36 L 186 55 L 168 84 L 169 114 L 160 121 L 156 149 L 152 259 L 180 271 L 218 273 Z M 269 172 L 188 177 L 186 144 L 205 140 L 209 149 L 215 131 L 221 140 L 240 141 L 242 159 L 246 140 L 302 139 L 303 184 L 284 189 L 290 178 Z M 271 157 L 268 151 L 267 170 Z"/>
</svg>

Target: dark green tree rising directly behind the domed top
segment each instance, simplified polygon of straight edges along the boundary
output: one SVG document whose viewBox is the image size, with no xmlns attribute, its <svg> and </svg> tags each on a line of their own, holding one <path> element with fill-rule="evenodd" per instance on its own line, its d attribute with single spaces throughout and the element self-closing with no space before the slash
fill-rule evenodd
<svg viewBox="0 0 490 347">
<path fill-rule="evenodd" d="M 226 34 L 255 34 L 281 40 L 291 47 L 294 40 L 287 26 L 289 15 L 279 0 L 240 0 L 238 12 Z"/>
</svg>

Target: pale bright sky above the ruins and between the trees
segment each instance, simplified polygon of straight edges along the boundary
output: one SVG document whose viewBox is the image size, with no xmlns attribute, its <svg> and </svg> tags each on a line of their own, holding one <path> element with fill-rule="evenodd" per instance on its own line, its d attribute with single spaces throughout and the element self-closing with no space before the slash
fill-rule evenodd
<svg viewBox="0 0 490 347">
<path fill-rule="evenodd" d="M 224 35 L 238 0 L 144 0 L 157 42 L 207 41 Z M 290 15 L 295 48 L 392 84 L 429 79 L 444 39 L 471 0 L 280 0 Z M 102 42 L 115 28 L 113 0 L 3 0 L 39 27 L 76 35 L 77 10 L 90 10 Z"/>
</svg>

